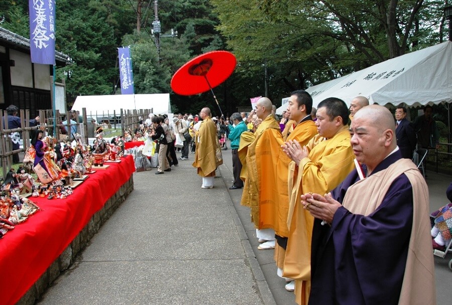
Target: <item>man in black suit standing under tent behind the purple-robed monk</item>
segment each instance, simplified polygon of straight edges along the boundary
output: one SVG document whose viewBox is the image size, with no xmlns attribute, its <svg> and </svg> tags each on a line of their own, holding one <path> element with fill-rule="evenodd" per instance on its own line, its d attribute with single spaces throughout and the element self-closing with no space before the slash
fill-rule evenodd
<svg viewBox="0 0 452 305">
<path fill-rule="evenodd" d="M 413 150 L 416 147 L 416 134 L 410 121 L 406 119 L 406 108 L 397 107 L 395 111 L 397 146 L 406 159 L 413 158 Z"/>
</svg>

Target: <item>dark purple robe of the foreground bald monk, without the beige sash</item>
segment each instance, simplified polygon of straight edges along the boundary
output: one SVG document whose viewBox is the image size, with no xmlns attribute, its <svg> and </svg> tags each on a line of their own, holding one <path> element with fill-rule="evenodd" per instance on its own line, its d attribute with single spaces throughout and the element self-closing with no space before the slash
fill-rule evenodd
<svg viewBox="0 0 452 305">
<path fill-rule="evenodd" d="M 397 304 L 412 219 L 412 187 L 404 174 L 374 213 L 355 215 L 339 208 L 326 244 L 313 257 L 309 304 Z"/>
</svg>

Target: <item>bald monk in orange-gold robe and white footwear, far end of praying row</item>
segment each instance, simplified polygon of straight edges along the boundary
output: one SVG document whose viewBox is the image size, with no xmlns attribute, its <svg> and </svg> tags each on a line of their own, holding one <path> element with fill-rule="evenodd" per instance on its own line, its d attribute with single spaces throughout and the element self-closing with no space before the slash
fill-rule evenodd
<svg viewBox="0 0 452 305">
<path fill-rule="evenodd" d="M 258 120 L 262 120 L 262 122 L 256 129 L 254 141 L 248 145 L 247 173 L 241 204 L 251 209 L 251 220 L 256 227 L 257 237 L 261 242 L 264 242 L 258 249 L 266 250 L 275 247 L 275 231 L 271 226 L 272 221 L 268 218 L 273 218 L 276 215 L 262 214 L 260 207 L 262 205 L 273 206 L 278 200 L 275 177 L 280 150 L 278 139 L 282 141 L 282 137 L 279 124 L 272 115 L 270 99 L 261 97 L 258 100 L 256 115 Z M 247 134 L 244 134 L 244 137 L 246 137 Z"/>
</svg>

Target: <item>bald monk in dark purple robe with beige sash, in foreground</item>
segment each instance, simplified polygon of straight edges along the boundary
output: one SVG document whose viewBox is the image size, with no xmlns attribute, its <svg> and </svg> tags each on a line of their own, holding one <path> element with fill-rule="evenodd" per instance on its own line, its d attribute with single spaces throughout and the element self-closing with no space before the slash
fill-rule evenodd
<svg viewBox="0 0 452 305">
<path fill-rule="evenodd" d="M 392 114 L 365 107 L 350 133 L 364 168 L 301 196 L 315 217 L 309 304 L 436 304 L 428 188 L 397 148 Z"/>
</svg>

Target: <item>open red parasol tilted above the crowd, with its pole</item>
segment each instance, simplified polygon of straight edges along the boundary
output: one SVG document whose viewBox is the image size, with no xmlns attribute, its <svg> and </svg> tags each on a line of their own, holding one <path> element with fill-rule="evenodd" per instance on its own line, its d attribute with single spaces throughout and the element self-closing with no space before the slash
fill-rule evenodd
<svg viewBox="0 0 452 305">
<path fill-rule="evenodd" d="M 171 88 L 180 95 L 193 95 L 210 89 L 218 105 L 212 88 L 228 79 L 234 72 L 236 62 L 234 54 L 227 51 L 212 51 L 199 55 L 174 73 Z"/>
</svg>

